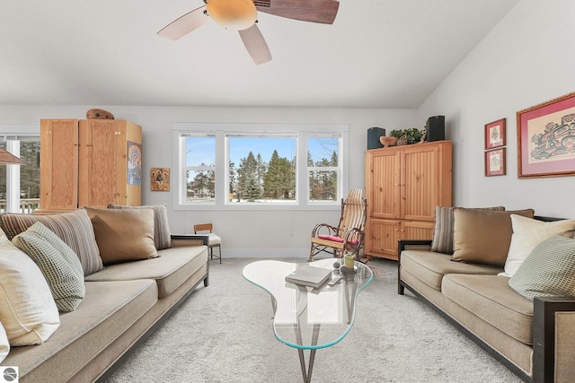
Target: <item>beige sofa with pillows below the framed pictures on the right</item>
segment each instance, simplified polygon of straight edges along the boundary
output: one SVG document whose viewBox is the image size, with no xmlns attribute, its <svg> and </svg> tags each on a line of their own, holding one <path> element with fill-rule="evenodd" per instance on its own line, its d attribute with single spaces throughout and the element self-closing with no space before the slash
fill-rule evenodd
<svg viewBox="0 0 575 383">
<path fill-rule="evenodd" d="M 400 241 L 398 293 L 429 303 L 521 379 L 571 382 L 575 221 L 532 216 L 438 207 L 433 240 Z"/>
</svg>

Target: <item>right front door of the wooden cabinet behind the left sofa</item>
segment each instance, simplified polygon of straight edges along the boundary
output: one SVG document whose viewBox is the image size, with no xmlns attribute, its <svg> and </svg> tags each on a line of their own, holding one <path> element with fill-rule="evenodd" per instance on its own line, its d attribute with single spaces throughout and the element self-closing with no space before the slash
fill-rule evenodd
<svg viewBox="0 0 575 383">
<path fill-rule="evenodd" d="M 118 197 L 116 121 L 80 120 L 78 205 L 104 208 Z"/>
</svg>

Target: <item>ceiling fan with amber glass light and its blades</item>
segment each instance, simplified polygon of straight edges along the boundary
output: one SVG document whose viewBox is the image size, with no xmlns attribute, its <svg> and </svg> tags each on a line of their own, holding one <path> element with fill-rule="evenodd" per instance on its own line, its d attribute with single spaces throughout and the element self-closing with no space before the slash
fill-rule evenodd
<svg viewBox="0 0 575 383">
<path fill-rule="evenodd" d="M 340 7 L 336 0 L 204 0 L 204 3 L 166 25 L 158 35 L 180 39 L 211 17 L 226 29 L 238 30 L 257 65 L 271 60 L 270 48 L 256 25 L 257 11 L 303 22 L 332 24 Z"/>
</svg>

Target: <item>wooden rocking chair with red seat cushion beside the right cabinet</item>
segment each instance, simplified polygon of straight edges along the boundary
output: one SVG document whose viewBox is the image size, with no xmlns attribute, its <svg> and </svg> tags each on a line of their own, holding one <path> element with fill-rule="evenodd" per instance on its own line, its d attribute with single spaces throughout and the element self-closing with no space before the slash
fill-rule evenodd
<svg viewBox="0 0 575 383">
<path fill-rule="evenodd" d="M 308 262 L 321 253 L 331 253 L 333 257 L 353 254 L 360 261 L 365 237 L 367 200 L 362 189 L 349 190 L 348 196 L 341 198 L 341 216 L 338 226 L 318 223 L 312 231 L 312 247 Z"/>
</svg>

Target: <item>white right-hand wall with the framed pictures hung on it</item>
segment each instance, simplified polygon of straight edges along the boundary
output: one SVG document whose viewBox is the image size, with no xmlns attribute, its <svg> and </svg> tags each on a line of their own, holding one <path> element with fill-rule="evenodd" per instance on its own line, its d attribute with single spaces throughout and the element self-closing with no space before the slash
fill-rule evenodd
<svg viewBox="0 0 575 383">
<path fill-rule="evenodd" d="M 575 178 L 517 178 L 516 112 L 575 91 L 575 2 L 522 0 L 419 110 L 446 116 L 455 205 L 575 218 Z M 484 177 L 483 127 L 507 118 L 507 175 Z"/>
</svg>

